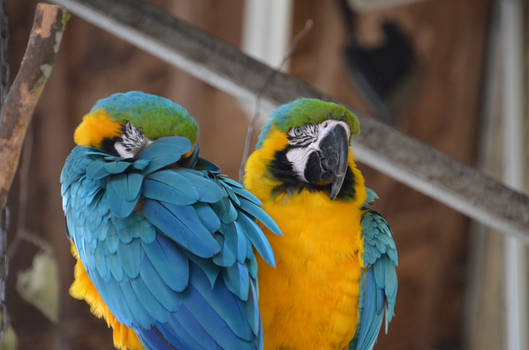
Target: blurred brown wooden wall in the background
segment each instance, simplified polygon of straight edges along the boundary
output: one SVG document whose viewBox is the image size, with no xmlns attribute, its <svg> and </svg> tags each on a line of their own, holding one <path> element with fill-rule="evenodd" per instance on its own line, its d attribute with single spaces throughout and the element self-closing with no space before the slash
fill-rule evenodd
<svg viewBox="0 0 529 350">
<path fill-rule="evenodd" d="M 36 2 L 8 2 L 10 58 L 16 72 Z M 153 2 L 239 46 L 243 0 Z M 336 3 L 296 0 L 294 15 L 293 33 L 301 30 L 307 18 L 315 23 L 292 57 L 291 73 L 367 111 L 342 63 L 345 36 Z M 376 41 L 378 24 L 388 17 L 397 19 L 410 36 L 422 69 L 419 88 L 396 127 L 473 164 L 488 1 L 430 0 L 370 14 L 361 20 L 366 41 Z M 72 18 L 31 126 L 27 207 L 17 208 L 18 181 L 11 193 L 14 221 L 25 210 L 26 226 L 52 243 L 59 260 L 61 322 L 51 324 L 14 290 L 17 271 L 31 264 L 36 251 L 23 243 L 11 262 L 8 290 L 20 349 L 34 349 L 36 344 L 40 349 L 112 349 L 111 332 L 104 322 L 67 293 L 73 259 L 64 232 L 59 173 L 82 115 L 97 99 L 127 90 L 163 95 L 186 107 L 200 125 L 204 157 L 237 176 L 248 122 L 234 98 Z M 362 169 L 367 184 L 381 197 L 376 207 L 392 225 L 400 254 L 397 315 L 376 349 L 461 348 L 468 220 L 385 175 L 365 166 Z"/>
</svg>

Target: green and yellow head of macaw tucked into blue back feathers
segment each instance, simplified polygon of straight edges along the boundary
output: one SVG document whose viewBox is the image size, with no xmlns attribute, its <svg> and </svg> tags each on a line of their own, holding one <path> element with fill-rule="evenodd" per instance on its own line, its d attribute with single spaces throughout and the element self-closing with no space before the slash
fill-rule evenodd
<svg viewBox="0 0 529 350">
<path fill-rule="evenodd" d="M 194 144 L 197 123 L 169 99 L 131 91 L 97 101 L 75 130 L 74 141 L 79 146 L 134 158 L 154 140 L 166 136 L 183 136 Z"/>
</svg>

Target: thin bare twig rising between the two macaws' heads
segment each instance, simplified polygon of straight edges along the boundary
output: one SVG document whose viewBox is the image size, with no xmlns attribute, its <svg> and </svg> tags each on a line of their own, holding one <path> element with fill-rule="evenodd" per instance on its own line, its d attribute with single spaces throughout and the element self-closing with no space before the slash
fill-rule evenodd
<svg viewBox="0 0 529 350">
<path fill-rule="evenodd" d="M 241 161 L 241 167 L 239 168 L 239 181 L 242 182 L 244 179 L 244 167 L 246 166 L 246 161 L 248 160 L 248 156 L 250 155 L 250 145 L 252 143 L 253 134 L 255 131 L 255 124 L 257 124 L 257 120 L 259 120 L 260 111 L 261 111 L 261 97 L 266 92 L 266 90 L 270 87 L 270 84 L 272 83 L 272 80 L 276 76 L 276 73 L 280 71 L 285 63 L 290 59 L 294 51 L 296 50 L 299 41 L 303 39 L 307 33 L 311 30 L 312 25 L 314 24 L 314 21 L 312 19 L 308 19 L 305 22 L 305 26 L 303 29 L 294 36 L 294 40 L 292 40 L 292 44 L 290 45 L 290 49 L 287 51 L 285 56 L 283 57 L 283 60 L 279 64 L 276 70 L 273 70 L 268 74 L 266 77 L 265 83 L 263 84 L 263 87 L 259 91 L 259 93 L 256 96 L 255 100 L 255 111 L 252 116 L 252 119 L 250 120 L 250 124 L 248 125 L 248 132 L 246 134 L 246 140 L 244 142 L 244 152 L 242 155 L 242 161 Z"/>
</svg>

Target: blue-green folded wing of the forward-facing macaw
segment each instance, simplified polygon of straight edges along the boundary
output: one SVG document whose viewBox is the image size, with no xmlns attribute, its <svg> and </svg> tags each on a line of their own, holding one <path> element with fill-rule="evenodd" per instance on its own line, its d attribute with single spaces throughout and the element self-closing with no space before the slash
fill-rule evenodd
<svg viewBox="0 0 529 350">
<path fill-rule="evenodd" d="M 368 202 L 377 198 L 368 190 Z M 349 345 L 351 350 L 373 349 L 384 314 L 385 329 L 391 321 L 397 298 L 397 249 L 388 223 L 374 210 L 362 216 L 364 238 L 364 268 L 360 280 L 360 318 L 356 334 Z"/>
</svg>

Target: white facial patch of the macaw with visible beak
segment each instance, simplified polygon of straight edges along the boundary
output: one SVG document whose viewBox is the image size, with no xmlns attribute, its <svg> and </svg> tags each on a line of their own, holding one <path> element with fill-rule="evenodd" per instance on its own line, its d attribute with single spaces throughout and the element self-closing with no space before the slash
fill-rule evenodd
<svg viewBox="0 0 529 350">
<path fill-rule="evenodd" d="M 347 138 L 351 136 L 349 125 L 341 120 L 326 120 L 320 124 L 309 124 L 301 127 L 292 128 L 288 132 L 288 143 L 292 146 L 287 151 L 287 160 L 292 164 L 293 170 L 296 172 L 298 178 L 307 182 L 305 178 L 305 166 L 309 160 L 309 156 L 314 151 L 320 150 L 321 140 L 327 136 L 330 130 L 336 125 L 344 127 L 347 133 Z M 299 147 L 299 145 L 304 145 Z"/>
</svg>

